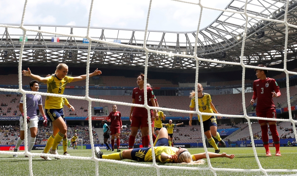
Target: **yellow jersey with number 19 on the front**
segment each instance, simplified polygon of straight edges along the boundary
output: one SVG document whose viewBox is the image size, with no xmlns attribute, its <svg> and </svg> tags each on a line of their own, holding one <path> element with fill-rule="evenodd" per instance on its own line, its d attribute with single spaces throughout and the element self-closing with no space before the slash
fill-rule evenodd
<svg viewBox="0 0 297 176">
<path fill-rule="evenodd" d="M 195 108 L 195 97 L 194 96 L 191 100 L 190 107 Z M 207 112 L 207 113 L 214 113 L 210 107 L 211 97 L 208 93 L 203 93 L 202 98 L 198 98 L 198 108 L 200 112 Z M 211 115 L 203 115 L 202 120 L 203 122 L 208 120 L 211 117 Z M 200 122 L 200 118 L 198 115 L 198 120 Z"/>
</svg>

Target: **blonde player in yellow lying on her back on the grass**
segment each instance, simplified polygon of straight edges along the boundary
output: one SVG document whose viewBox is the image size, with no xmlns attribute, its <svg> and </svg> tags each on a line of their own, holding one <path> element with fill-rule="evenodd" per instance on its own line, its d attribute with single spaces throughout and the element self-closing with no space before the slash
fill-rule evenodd
<svg viewBox="0 0 297 176">
<path fill-rule="evenodd" d="M 205 161 L 202 160 L 206 158 L 206 153 L 193 154 L 186 148 L 176 148 L 168 146 L 168 132 L 166 128 L 161 128 L 157 140 L 154 143 L 155 158 L 156 162 L 162 163 L 181 163 L 181 164 L 203 164 Z M 97 158 L 101 159 L 131 159 L 139 162 L 152 162 L 153 157 L 151 153 L 151 148 L 134 148 L 129 150 L 124 150 L 120 153 L 113 153 L 109 155 L 104 155 L 99 147 L 95 148 L 95 154 Z M 233 159 L 234 154 L 227 155 L 226 153 L 216 154 L 208 152 L 210 158 L 226 157 Z"/>
</svg>

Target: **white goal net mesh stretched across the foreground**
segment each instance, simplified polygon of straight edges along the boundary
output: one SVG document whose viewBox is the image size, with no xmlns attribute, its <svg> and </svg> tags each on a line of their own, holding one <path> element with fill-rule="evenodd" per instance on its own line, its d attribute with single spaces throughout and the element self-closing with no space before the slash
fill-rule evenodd
<svg viewBox="0 0 297 176">
<path fill-rule="evenodd" d="M 179 1 L 179 0 L 174 0 L 174 1 Z M 284 21 L 282 20 L 275 20 L 275 19 L 269 19 L 269 18 L 264 18 L 264 17 L 260 17 L 260 16 L 251 16 L 250 14 L 247 13 L 247 4 L 248 4 L 248 0 L 245 1 L 245 5 L 244 5 L 244 10 L 241 11 L 235 11 L 235 10 L 226 10 L 226 9 L 217 9 L 217 8 L 212 8 L 212 7 L 206 7 L 203 6 L 200 1 L 198 3 L 193 3 L 193 2 L 187 2 L 187 1 L 179 1 L 182 3 L 189 3 L 192 5 L 197 5 L 197 7 L 200 7 L 200 18 L 199 18 L 199 22 L 198 22 L 198 28 L 197 28 L 197 34 L 199 33 L 199 27 L 200 27 L 200 21 L 201 21 L 201 16 L 202 16 L 202 11 L 203 8 L 206 9 L 213 9 L 213 10 L 219 10 L 219 11 L 224 11 L 224 12 L 231 12 L 231 13 L 237 13 L 237 14 L 241 14 L 245 17 L 246 19 L 246 25 L 244 27 L 244 32 L 243 32 L 243 38 L 242 38 L 242 48 L 241 48 L 241 56 L 240 56 L 240 62 L 227 62 L 227 61 L 220 61 L 220 60 L 210 60 L 210 59 L 204 59 L 204 58 L 199 58 L 196 53 L 197 53 L 197 41 L 198 41 L 198 35 L 196 35 L 195 38 L 195 47 L 194 47 L 194 54 L 193 55 L 185 55 L 185 54 L 172 54 L 172 53 L 167 53 L 167 52 L 163 52 L 163 51 L 156 51 L 156 50 L 151 50 L 148 49 L 146 47 L 146 40 L 147 40 L 147 31 L 148 31 L 148 24 L 149 24 L 149 17 L 150 17 L 150 11 L 151 11 L 151 3 L 152 0 L 149 3 L 149 10 L 148 10 L 148 14 L 147 14 L 147 20 L 146 20 L 146 28 L 145 28 L 145 34 L 144 34 L 144 43 L 143 43 L 143 47 L 141 46 L 132 46 L 132 45 L 126 45 L 126 44 L 120 44 L 120 43 L 113 43 L 113 42 L 109 42 L 109 41 L 103 41 L 103 40 L 99 40 L 99 39 L 95 39 L 95 38 L 91 38 L 89 36 L 89 30 L 90 30 L 90 22 L 91 22 L 91 14 L 92 14 L 92 8 L 93 8 L 93 0 L 91 1 L 91 7 L 90 7 L 90 12 L 89 12 L 89 21 L 88 21 L 88 28 L 87 28 L 87 33 L 85 36 L 80 36 L 80 35 L 73 35 L 73 34 L 63 34 L 63 33 L 56 33 L 56 32 L 49 32 L 49 31 L 43 31 L 43 30 L 32 30 L 32 29 L 28 29 L 25 28 L 23 25 L 24 22 L 24 16 L 25 16 L 25 12 L 26 12 L 26 6 L 27 6 L 27 0 L 25 1 L 24 4 L 24 8 L 23 8 L 23 15 L 22 15 L 22 20 L 21 20 L 21 24 L 20 26 L 13 26 L 13 25 L 0 25 L 0 27 L 7 27 L 7 28 L 19 28 L 23 30 L 23 38 L 26 37 L 26 32 L 27 31 L 34 31 L 34 32 L 40 32 L 40 33 L 49 33 L 49 34 L 53 34 L 53 35 L 63 35 L 63 36 L 69 36 L 69 37 L 79 37 L 79 38 L 87 38 L 89 40 L 89 46 L 88 46 L 88 55 L 87 55 L 87 67 L 86 67 L 86 73 L 87 73 L 87 77 L 86 77 L 86 96 L 69 96 L 69 95 L 58 95 L 58 94 L 52 94 L 52 93 L 42 93 L 39 92 L 40 95 L 44 95 L 44 96 L 56 96 L 56 97 L 65 97 L 65 98 L 69 98 L 69 99 L 80 99 L 80 100 L 87 100 L 89 101 L 89 131 L 92 131 L 92 126 L 91 126 L 91 102 L 92 101 L 97 101 L 97 102 L 104 102 L 104 103 L 110 103 L 110 104 L 119 104 L 119 105 L 126 105 L 126 106 L 138 106 L 138 107 L 145 107 L 148 110 L 148 114 L 150 116 L 150 106 L 148 106 L 147 102 L 145 101 L 144 105 L 138 105 L 138 104 L 131 104 L 131 103 L 124 103 L 124 102 L 117 102 L 117 101 L 108 101 L 108 100 L 103 100 L 103 99 L 93 99 L 89 97 L 89 87 L 88 87 L 88 83 L 89 83 L 89 66 L 90 66 L 90 51 L 91 51 L 91 43 L 92 42 L 99 42 L 99 43 L 105 43 L 105 44 L 112 44 L 115 46 L 122 46 L 122 47 L 128 47 L 128 48 L 134 48 L 134 49 L 142 49 L 144 51 L 146 51 L 146 62 L 145 62 L 145 71 L 144 74 L 147 75 L 147 69 L 148 69 L 148 54 L 150 53 L 157 53 L 157 54 L 171 54 L 172 56 L 179 56 L 179 57 L 185 57 L 185 58 L 193 58 L 196 60 L 196 78 L 195 78 L 195 92 L 197 93 L 197 83 L 198 83 L 198 66 L 199 66 L 199 61 L 205 61 L 205 62 L 214 62 L 214 63 L 220 63 L 220 64 L 227 64 L 227 65 L 240 65 L 243 69 L 242 71 L 242 90 L 244 90 L 244 78 L 245 78 L 245 68 L 258 68 L 261 69 L 262 67 L 256 67 L 256 66 L 251 66 L 251 65 L 246 65 L 243 62 L 243 57 L 244 57 L 244 45 L 245 45 L 245 39 L 246 39 L 246 33 L 247 33 L 247 24 L 248 24 L 248 19 L 249 18 L 257 18 L 258 20 L 266 20 L 266 21 L 272 21 L 272 22 L 279 22 L 279 23 L 283 23 L 286 26 L 286 32 L 285 32 L 285 49 L 284 51 L 287 51 L 287 41 L 288 41 L 288 27 L 293 27 L 296 28 L 295 25 L 289 24 L 287 22 L 287 12 L 288 12 L 288 5 L 291 1 L 286 1 L 286 6 L 285 6 L 285 16 L 284 16 Z M 22 57 L 23 57 L 23 49 L 24 49 L 24 45 L 25 45 L 25 40 L 22 41 L 21 43 L 21 49 L 20 49 L 20 57 L 19 57 L 19 65 L 18 65 L 18 75 L 19 75 L 19 89 L 6 89 L 6 88 L 0 88 L 0 91 L 10 91 L 10 92 L 20 92 L 23 94 L 23 106 L 24 106 L 24 116 L 26 117 L 26 93 L 35 93 L 32 91 L 25 91 L 22 88 Z M 284 52 L 284 68 L 283 69 L 276 69 L 276 68 L 267 68 L 267 70 L 276 70 L 276 71 L 282 71 L 286 73 L 286 85 L 289 85 L 289 74 L 295 74 L 297 75 L 296 72 L 290 72 L 287 70 L 287 52 Z M 146 85 L 146 76 L 144 79 L 145 83 L 144 85 Z M 144 92 L 145 96 L 146 95 L 146 91 Z M 195 100 L 196 101 L 196 109 L 198 109 L 198 99 Z M 289 95 L 289 86 L 287 86 L 287 103 L 288 105 L 290 105 L 290 95 Z M 251 123 L 250 123 L 250 119 L 260 119 L 260 120 L 270 120 L 268 118 L 263 118 L 263 117 L 249 117 L 247 116 L 247 112 L 245 109 L 245 96 L 244 93 L 242 93 L 242 105 L 243 105 L 243 112 L 244 115 L 230 115 L 230 114 L 215 114 L 215 115 L 219 115 L 219 116 L 225 116 L 225 117 L 235 117 L 235 118 L 246 118 L 247 121 L 249 122 L 249 132 L 250 132 L 250 136 L 252 135 L 252 127 L 251 127 Z M 168 108 L 161 108 L 161 107 L 157 107 L 154 109 L 159 109 L 159 110 L 163 110 L 163 111 L 172 111 L 172 112 L 182 112 L 182 113 L 197 113 L 200 115 L 200 120 L 202 121 L 202 116 L 201 115 L 214 115 L 214 114 L 209 114 L 209 113 L 201 113 L 199 111 L 186 111 L 186 110 L 178 110 L 178 109 L 168 109 Z M 289 119 L 275 119 L 276 121 L 289 121 L 292 122 L 293 124 L 297 123 L 297 121 L 292 119 L 292 114 L 291 114 L 291 109 L 289 108 Z M 150 118 L 149 118 L 150 121 Z M 24 123 L 25 125 L 25 129 L 28 127 L 27 123 Z M 295 137 L 296 135 L 296 128 L 293 128 L 294 130 L 294 134 Z M 203 133 L 203 125 L 201 126 L 201 132 Z M 151 134 L 151 126 L 149 126 L 149 136 L 150 136 L 150 142 L 153 143 L 152 141 L 152 134 Z M 78 157 L 78 156 L 64 156 L 64 155 L 59 155 L 60 158 L 67 158 L 67 159 L 79 159 L 79 160 L 93 160 L 94 162 L 96 162 L 96 175 L 98 176 L 98 162 L 112 162 L 112 163 L 119 163 L 119 164 L 126 164 L 126 165 L 132 165 L 132 166 L 140 166 L 140 167 L 154 167 L 157 169 L 157 175 L 160 175 L 160 169 L 164 168 L 164 169 L 187 169 L 187 170 L 210 170 L 211 172 L 213 172 L 214 175 L 217 175 L 216 172 L 217 171 L 232 171 L 232 172 L 263 172 L 265 175 L 267 175 L 267 172 L 297 172 L 297 169 L 263 169 L 263 167 L 260 164 L 260 161 L 258 159 L 257 153 L 256 153 L 256 149 L 255 149 L 255 143 L 253 138 L 251 138 L 252 140 L 252 147 L 253 147 L 253 151 L 254 151 L 254 155 L 255 155 L 255 159 L 257 161 L 258 164 L 258 169 L 230 169 L 230 168 L 214 168 L 211 165 L 211 161 L 209 159 L 208 153 L 206 153 L 207 156 L 207 162 L 208 162 L 208 167 L 206 168 L 200 168 L 200 167 L 176 167 L 176 166 L 164 166 L 164 165 L 158 165 L 155 162 L 155 157 L 154 157 L 154 150 L 152 149 L 153 152 L 153 163 L 152 164 L 139 164 L 139 163 L 135 163 L 135 162 L 122 162 L 122 161 L 115 161 L 115 160 L 107 160 L 107 159 L 97 159 L 95 154 L 94 154 L 94 142 L 93 142 L 93 136 L 90 135 L 90 141 L 91 141 L 91 147 L 92 147 L 92 157 Z M 204 135 L 202 135 L 202 141 L 203 141 L 203 147 L 204 150 L 207 152 L 207 148 L 206 148 L 206 143 L 205 143 L 205 137 Z M 19 155 L 27 155 L 29 156 L 29 172 L 30 175 L 33 176 L 33 171 L 32 171 L 32 156 L 50 156 L 53 157 L 55 155 L 50 155 L 50 154 L 41 154 L 41 153 L 31 153 L 28 152 L 28 138 L 27 138 L 27 130 L 25 130 L 25 151 L 24 152 L 18 152 L 17 154 Z M 7 151 L 0 151 L 0 154 L 15 154 L 15 152 L 7 152 Z"/>
</svg>

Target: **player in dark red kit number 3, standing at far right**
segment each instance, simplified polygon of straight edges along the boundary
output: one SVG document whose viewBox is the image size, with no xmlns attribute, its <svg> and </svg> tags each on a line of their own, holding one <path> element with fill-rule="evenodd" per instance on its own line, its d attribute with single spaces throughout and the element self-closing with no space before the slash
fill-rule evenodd
<svg viewBox="0 0 297 176">
<path fill-rule="evenodd" d="M 281 95 L 279 91 L 279 86 L 277 82 L 272 78 L 267 78 L 266 74 L 268 70 L 264 70 L 265 66 L 258 65 L 258 67 L 263 67 L 261 69 L 255 69 L 256 76 L 258 80 L 254 81 L 253 90 L 254 95 L 251 99 L 251 104 L 255 103 L 257 100 L 256 114 L 257 117 L 266 117 L 266 118 L 276 118 L 275 105 L 272 97 L 279 97 Z M 277 133 L 277 123 L 276 121 L 271 120 L 259 120 L 259 124 L 262 130 L 262 141 L 263 146 L 266 150 L 266 156 L 271 156 L 269 150 L 269 140 L 268 140 L 268 126 L 272 134 L 272 140 L 275 146 L 275 156 L 282 156 L 279 151 L 279 135 Z"/>
</svg>

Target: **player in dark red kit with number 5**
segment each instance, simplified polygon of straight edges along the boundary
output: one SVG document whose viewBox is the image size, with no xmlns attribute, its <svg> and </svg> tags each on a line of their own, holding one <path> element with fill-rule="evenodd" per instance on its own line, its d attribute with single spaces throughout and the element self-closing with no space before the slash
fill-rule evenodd
<svg viewBox="0 0 297 176">
<path fill-rule="evenodd" d="M 153 89 L 150 87 L 144 86 L 144 75 L 140 74 L 137 77 L 137 85 L 139 87 L 133 89 L 132 93 L 132 103 L 133 104 L 144 104 L 144 101 L 149 101 L 153 106 L 156 106 L 154 100 Z M 147 91 L 147 97 L 144 97 L 144 90 Z M 151 110 L 152 112 L 152 110 Z M 132 114 L 133 113 L 133 114 Z M 151 120 L 154 120 L 154 117 L 158 117 L 157 110 L 153 113 Z M 129 137 L 129 149 L 133 148 L 135 143 L 135 136 L 137 135 L 138 129 L 142 128 L 143 133 L 143 146 L 149 146 L 149 120 L 148 120 L 148 111 L 146 108 L 134 107 L 131 106 L 130 110 L 130 121 L 131 121 L 131 134 Z"/>
</svg>

